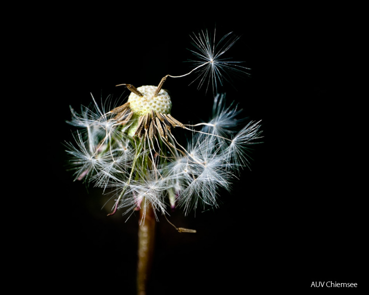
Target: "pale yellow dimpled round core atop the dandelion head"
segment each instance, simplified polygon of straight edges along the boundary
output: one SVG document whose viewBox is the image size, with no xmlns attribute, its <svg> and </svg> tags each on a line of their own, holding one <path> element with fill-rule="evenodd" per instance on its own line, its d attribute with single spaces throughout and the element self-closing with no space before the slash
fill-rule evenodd
<svg viewBox="0 0 369 295">
<path fill-rule="evenodd" d="M 157 86 L 145 85 L 138 87 L 143 96 L 138 96 L 133 92 L 128 97 L 129 107 L 138 116 L 146 115 L 153 110 L 162 114 L 169 114 L 172 108 L 171 97 L 168 92 L 161 89 L 154 97 Z"/>
</svg>

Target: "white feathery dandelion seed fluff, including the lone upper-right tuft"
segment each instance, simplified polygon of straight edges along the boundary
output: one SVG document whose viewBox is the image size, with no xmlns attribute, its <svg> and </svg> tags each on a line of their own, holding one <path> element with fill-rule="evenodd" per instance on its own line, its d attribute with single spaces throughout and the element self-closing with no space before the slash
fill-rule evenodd
<svg viewBox="0 0 369 295">
<path fill-rule="evenodd" d="M 217 81 L 222 83 L 222 71 L 241 71 L 223 59 L 237 40 L 226 41 L 228 36 L 222 38 L 223 46 L 214 46 L 207 32 L 193 37 L 200 61 L 187 74 L 200 73 L 200 85 L 209 79 L 216 89 Z M 207 123 L 175 126 L 189 133 L 187 143 L 177 141 L 168 122 L 165 136 L 158 123 L 154 124 L 156 136 L 149 138 L 146 130 L 144 136 L 132 137 L 142 114 L 129 116 L 122 124 L 111 116 L 112 108 L 92 100 L 92 106 L 82 107 L 80 113 L 71 108 L 69 123 L 79 130 L 75 143 L 66 145 L 67 152 L 76 180 L 113 193 L 112 214 L 123 208 L 129 214 L 145 206 L 156 214 L 166 214 L 169 208 L 181 208 L 188 214 L 198 207 L 217 207 L 218 189 L 230 190 L 232 180 L 249 164 L 250 145 L 261 135 L 260 122 L 245 125 L 245 119 L 238 118 L 237 105 L 226 106 L 223 94 L 214 95 L 212 118 Z"/>
</svg>

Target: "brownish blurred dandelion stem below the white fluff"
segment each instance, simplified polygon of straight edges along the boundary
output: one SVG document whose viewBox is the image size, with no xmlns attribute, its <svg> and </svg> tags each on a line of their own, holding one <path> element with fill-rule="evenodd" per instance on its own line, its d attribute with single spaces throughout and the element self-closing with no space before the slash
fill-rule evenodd
<svg viewBox="0 0 369 295">
<path fill-rule="evenodd" d="M 150 202 L 143 202 L 138 226 L 137 295 L 146 295 L 155 242 L 155 213 Z"/>
</svg>

